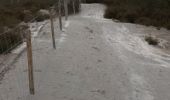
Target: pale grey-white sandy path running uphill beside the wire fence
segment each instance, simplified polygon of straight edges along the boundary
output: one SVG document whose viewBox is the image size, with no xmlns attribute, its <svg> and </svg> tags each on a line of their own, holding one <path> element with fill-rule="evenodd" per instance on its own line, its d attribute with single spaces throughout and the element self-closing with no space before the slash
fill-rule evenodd
<svg viewBox="0 0 170 100">
<path fill-rule="evenodd" d="M 24 52 L 0 84 L 0 100 L 169 100 L 169 57 L 135 35 L 143 32 L 136 25 L 104 19 L 104 9 L 83 4 L 64 32 L 56 21 L 56 50 L 48 23 L 33 42 L 35 96 Z"/>
</svg>

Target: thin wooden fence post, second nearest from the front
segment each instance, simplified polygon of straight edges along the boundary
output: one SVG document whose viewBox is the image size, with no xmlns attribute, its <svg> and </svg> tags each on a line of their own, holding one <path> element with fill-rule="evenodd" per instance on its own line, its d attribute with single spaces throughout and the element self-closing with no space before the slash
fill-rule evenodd
<svg viewBox="0 0 170 100">
<path fill-rule="evenodd" d="M 52 34 L 53 48 L 56 49 L 56 45 L 55 45 L 55 35 L 54 35 L 53 11 L 54 11 L 54 9 L 52 8 L 52 9 L 50 10 L 50 22 L 51 22 L 51 34 Z"/>
</svg>

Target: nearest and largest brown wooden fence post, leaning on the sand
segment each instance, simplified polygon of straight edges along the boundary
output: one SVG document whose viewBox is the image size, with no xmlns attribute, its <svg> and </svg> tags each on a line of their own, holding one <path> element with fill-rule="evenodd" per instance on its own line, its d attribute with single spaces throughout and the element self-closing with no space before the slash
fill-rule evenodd
<svg viewBox="0 0 170 100">
<path fill-rule="evenodd" d="M 33 58 L 32 58 L 32 44 L 31 44 L 31 31 L 28 29 L 25 34 L 25 41 L 27 44 L 27 59 L 28 59 L 28 78 L 30 94 L 35 94 L 34 89 L 34 72 L 33 72 Z"/>
</svg>

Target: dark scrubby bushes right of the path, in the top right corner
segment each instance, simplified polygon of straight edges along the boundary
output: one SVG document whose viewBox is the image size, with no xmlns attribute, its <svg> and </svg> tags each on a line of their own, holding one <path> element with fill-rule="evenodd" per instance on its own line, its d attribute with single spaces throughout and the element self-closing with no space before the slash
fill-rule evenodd
<svg viewBox="0 0 170 100">
<path fill-rule="evenodd" d="M 104 17 L 169 29 L 170 0 L 104 0 Z"/>
</svg>

